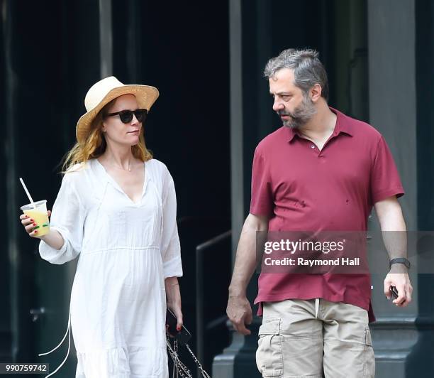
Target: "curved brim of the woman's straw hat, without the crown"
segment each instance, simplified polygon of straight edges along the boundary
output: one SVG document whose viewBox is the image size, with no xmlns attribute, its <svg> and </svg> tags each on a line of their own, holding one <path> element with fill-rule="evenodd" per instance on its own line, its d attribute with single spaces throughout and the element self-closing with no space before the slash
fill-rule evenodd
<svg viewBox="0 0 434 378">
<path fill-rule="evenodd" d="M 75 129 L 75 136 L 79 143 L 86 140 L 96 114 L 98 114 L 106 104 L 109 104 L 113 99 L 122 95 L 134 95 L 137 99 L 138 107 L 140 109 L 147 109 L 149 112 L 152 104 L 154 104 L 160 93 L 157 88 L 151 87 L 150 85 L 123 85 L 122 87 L 113 88 L 94 109 L 89 110 L 89 112 L 79 118 Z"/>
</svg>

